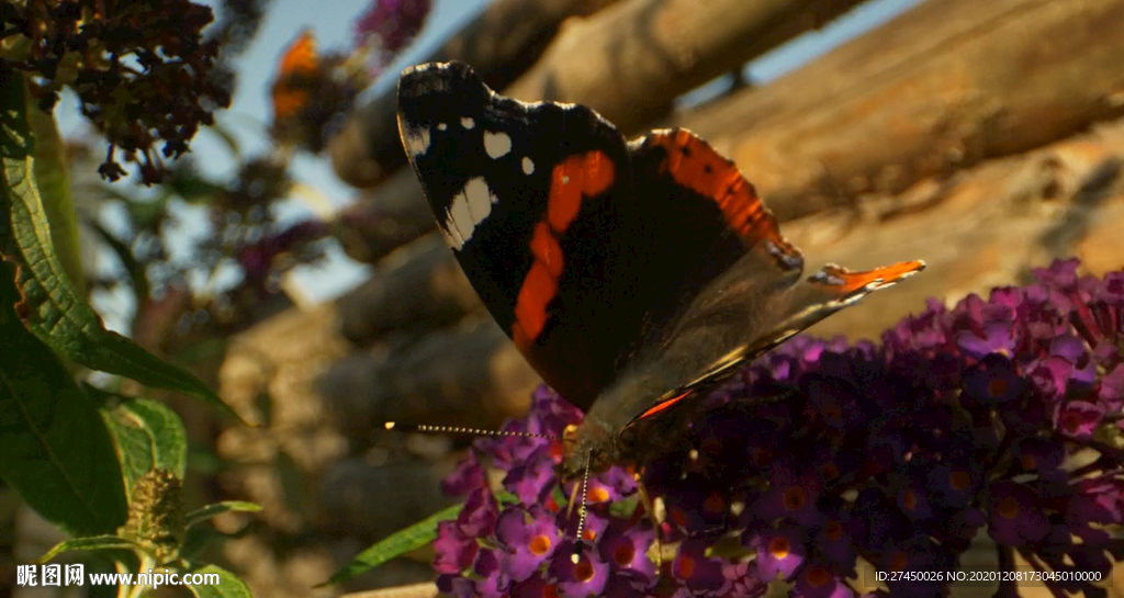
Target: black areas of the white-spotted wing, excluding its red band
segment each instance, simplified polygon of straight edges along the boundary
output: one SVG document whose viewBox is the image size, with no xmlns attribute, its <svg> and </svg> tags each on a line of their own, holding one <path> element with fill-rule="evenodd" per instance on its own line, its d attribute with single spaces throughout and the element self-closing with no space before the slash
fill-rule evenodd
<svg viewBox="0 0 1124 598">
<path fill-rule="evenodd" d="M 596 201 L 582 202 L 578 220 L 560 239 L 565 271 L 559 295 L 537 342 L 520 347 L 549 384 L 588 407 L 615 374 L 622 344 L 613 317 L 622 306 L 606 281 L 614 273 L 627 275 L 613 242 L 622 230 L 616 208 L 631 197 L 624 138 L 584 107 L 496 96 L 459 63 L 407 70 L 398 97 L 399 128 L 438 225 L 445 228 L 454 198 L 470 180 L 482 176 L 497 198 L 463 246 L 452 241 L 473 288 L 509 336 L 516 298 L 534 261 L 534 227 L 546 215 L 552 167 L 592 150 L 616 165 L 614 184 Z M 510 151 L 489 155 L 486 132 L 508 136 Z M 419 137 L 427 137 L 420 152 Z"/>
</svg>

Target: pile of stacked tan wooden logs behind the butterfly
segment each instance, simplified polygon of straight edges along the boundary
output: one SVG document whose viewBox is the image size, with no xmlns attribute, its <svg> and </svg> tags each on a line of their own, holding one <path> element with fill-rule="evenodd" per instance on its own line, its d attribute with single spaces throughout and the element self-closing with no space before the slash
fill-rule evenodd
<svg viewBox="0 0 1124 598">
<path fill-rule="evenodd" d="M 809 268 L 928 262 L 922 275 L 815 334 L 876 337 L 926 297 L 955 300 L 1022 282 L 1055 256 L 1078 255 L 1090 273 L 1124 266 L 1124 0 L 928 0 L 767 85 L 670 110 L 700 82 L 858 3 L 498 0 L 434 57 L 468 58 L 524 100 L 589 103 L 628 133 L 698 132 L 756 184 Z M 513 28 L 520 18 L 526 26 Z M 522 413 L 537 380 L 432 233 L 420 188 L 400 167 L 392 118 L 391 99 L 378 98 L 332 144 L 341 176 L 366 188 L 344 243 L 374 264 L 370 281 L 306 318 L 327 327 L 317 336 L 335 338 L 333 357 L 300 370 L 305 378 L 271 381 L 294 354 L 315 351 L 291 314 L 247 335 L 274 330 L 291 334 L 290 343 L 232 347 L 226 380 L 248 359 L 259 363 L 259 392 L 305 405 L 272 407 L 306 414 L 300 424 L 239 433 L 243 445 L 269 447 L 261 459 L 289 452 L 305 437 L 301 426 L 330 427 L 333 448 L 317 454 L 345 461 L 351 479 L 378 478 L 370 472 L 439 460 L 447 448 L 426 444 L 433 438 L 402 448 L 377 429 L 381 420 L 496 426 Z M 254 392 L 237 395 L 251 416 L 263 409 Z M 309 493 L 343 491 L 343 465 L 329 461 L 296 460 Z M 255 500 L 254 488 L 279 484 L 234 479 Z M 335 533 L 366 540 L 410 523 L 395 501 L 369 500 L 380 506 L 378 520 Z M 356 508 L 328 504 L 274 525 L 297 534 Z"/>
</svg>

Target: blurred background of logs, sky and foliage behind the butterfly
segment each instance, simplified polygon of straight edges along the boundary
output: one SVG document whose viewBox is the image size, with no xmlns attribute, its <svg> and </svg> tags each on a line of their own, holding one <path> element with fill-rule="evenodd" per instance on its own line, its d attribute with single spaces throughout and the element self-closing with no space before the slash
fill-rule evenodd
<svg viewBox="0 0 1124 598">
<path fill-rule="evenodd" d="M 422 551 L 312 589 L 447 504 L 439 479 L 465 441 L 381 423 L 497 427 L 538 383 L 404 167 L 405 65 L 461 60 L 629 136 L 695 130 L 809 269 L 928 262 L 813 334 L 877 338 L 926 298 L 1024 282 L 1055 256 L 1124 265 L 1124 0 L 197 3 L 223 28 L 233 101 L 190 153 L 112 172 L 82 99 L 63 92 L 54 112 L 94 307 L 263 423 L 169 398 L 193 447 L 189 501 L 264 507 L 219 518 L 232 538 L 215 547 L 259 596 L 430 580 Z M 10 489 L 0 506 L 9 558 L 60 540 Z"/>
</svg>

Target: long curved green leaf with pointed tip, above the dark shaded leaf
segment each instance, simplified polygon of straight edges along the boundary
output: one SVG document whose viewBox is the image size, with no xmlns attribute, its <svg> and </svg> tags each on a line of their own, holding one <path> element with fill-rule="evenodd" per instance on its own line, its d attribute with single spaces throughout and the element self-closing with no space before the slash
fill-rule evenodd
<svg viewBox="0 0 1124 598">
<path fill-rule="evenodd" d="M 0 243 L 3 245 L 0 250 L 20 266 L 17 284 L 30 310 L 28 327 L 71 361 L 149 387 L 193 395 L 234 414 L 218 395 L 187 371 L 107 330 L 93 308 L 75 291 L 55 255 L 43 202 L 35 187 L 34 146 L 27 125 L 22 78 L 11 71 L 0 72 L 0 161 L 3 165 L 3 184 L 0 185 Z"/>
</svg>

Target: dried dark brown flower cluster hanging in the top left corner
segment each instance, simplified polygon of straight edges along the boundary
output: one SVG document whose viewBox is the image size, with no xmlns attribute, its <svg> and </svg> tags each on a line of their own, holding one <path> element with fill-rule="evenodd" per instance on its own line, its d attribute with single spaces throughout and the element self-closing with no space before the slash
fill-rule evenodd
<svg viewBox="0 0 1124 598">
<path fill-rule="evenodd" d="M 219 42 L 202 36 L 211 20 L 189 0 L 2 0 L 0 60 L 28 73 L 44 109 L 74 90 L 109 141 L 102 176 L 125 174 L 120 156 L 151 184 L 230 103 L 230 78 L 215 76 Z"/>
</svg>

